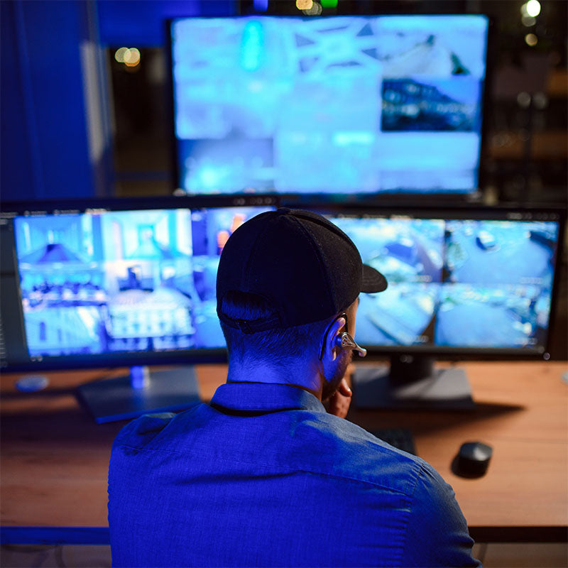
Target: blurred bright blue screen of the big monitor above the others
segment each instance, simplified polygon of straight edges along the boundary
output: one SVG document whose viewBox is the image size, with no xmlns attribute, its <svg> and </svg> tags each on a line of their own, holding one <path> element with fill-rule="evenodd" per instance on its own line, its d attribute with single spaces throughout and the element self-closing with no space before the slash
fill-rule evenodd
<svg viewBox="0 0 568 568">
<path fill-rule="evenodd" d="M 176 182 L 476 192 L 487 35 L 481 15 L 175 19 Z"/>
</svg>

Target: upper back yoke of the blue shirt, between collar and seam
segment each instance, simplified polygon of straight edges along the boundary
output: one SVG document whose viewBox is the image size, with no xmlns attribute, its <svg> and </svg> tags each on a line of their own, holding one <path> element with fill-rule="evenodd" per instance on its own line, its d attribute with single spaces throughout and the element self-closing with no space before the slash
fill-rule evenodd
<svg viewBox="0 0 568 568">
<path fill-rule="evenodd" d="M 223 452 L 230 452 L 231 459 L 250 464 L 258 461 L 263 468 L 332 476 L 338 483 L 368 484 L 379 491 L 405 495 L 413 494 L 419 481 L 423 486 L 424 479 L 427 485 L 442 482 L 422 459 L 334 415 L 310 410 L 285 411 L 246 419 L 241 430 L 236 429 L 234 419 L 217 415 L 212 420 L 212 415 L 217 413 L 212 413 L 208 405 L 196 405 L 178 415 L 143 415 L 129 422 L 116 436 L 116 460 L 124 461 L 141 455 L 140 452 L 155 450 L 160 454 L 173 452 L 200 459 L 207 458 L 211 452 L 217 458 Z M 262 444 L 259 438 L 264 440 Z M 271 445 L 268 440 L 273 440 L 277 447 L 268 451 L 267 444 Z"/>
</svg>

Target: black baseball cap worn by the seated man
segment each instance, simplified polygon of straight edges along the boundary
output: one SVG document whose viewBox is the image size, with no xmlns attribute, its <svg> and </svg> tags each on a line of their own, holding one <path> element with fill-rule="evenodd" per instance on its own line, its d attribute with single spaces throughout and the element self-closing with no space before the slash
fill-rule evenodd
<svg viewBox="0 0 568 568">
<path fill-rule="evenodd" d="M 361 292 L 382 292 L 386 278 L 363 264 L 338 226 L 322 215 L 282 207 L 256 215 L 226 242 L 217 271 L 217 315 L 246 333 L 327 320 Z M 223 311 L 227 293 L 260 296 L 271 315 L 236 320 Z"/>
</svg>

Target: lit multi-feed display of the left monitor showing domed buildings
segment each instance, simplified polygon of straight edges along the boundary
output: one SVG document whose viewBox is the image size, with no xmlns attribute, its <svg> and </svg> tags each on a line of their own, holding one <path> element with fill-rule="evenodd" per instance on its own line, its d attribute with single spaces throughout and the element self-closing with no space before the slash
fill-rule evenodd
<svg viewBox="0 0 568 568">
<path fill-rule="evenodd" d="M 16 217 L 30 356 L 224 347 L 215 278 L 226 240 L 261 209 Z"/>
</svg>

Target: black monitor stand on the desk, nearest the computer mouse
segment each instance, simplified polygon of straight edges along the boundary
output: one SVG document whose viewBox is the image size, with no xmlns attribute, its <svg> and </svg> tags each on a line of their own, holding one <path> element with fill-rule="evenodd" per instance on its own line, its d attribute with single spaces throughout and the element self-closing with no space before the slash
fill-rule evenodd
<svg viewBox="0 0 568 568">
<path fill-rule="evenodd" d="M 435 368 L 435 358 L 395 355 L 391 366 L 358 366 L 353 375 L 354 406 L 389 410 L 473 410 L 461 368 Z"/>
</svg>

